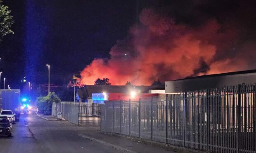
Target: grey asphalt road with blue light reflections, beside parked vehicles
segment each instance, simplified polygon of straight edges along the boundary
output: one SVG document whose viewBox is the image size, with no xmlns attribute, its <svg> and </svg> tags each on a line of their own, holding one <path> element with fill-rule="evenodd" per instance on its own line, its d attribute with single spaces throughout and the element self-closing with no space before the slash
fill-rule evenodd
<svg viewBox="0 0 256 153">
<path fill-rule="evenodd" d="M 67 121 L 45 121 L 35 112 L 21 114 L 12 137 L 0 137 L 0 153 L 118 153 L 78 134 L 85 129 Z"/>
</svg>

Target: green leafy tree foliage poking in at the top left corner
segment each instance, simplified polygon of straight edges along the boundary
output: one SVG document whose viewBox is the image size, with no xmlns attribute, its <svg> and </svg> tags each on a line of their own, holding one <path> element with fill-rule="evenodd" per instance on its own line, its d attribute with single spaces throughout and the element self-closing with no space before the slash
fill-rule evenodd
<svg viewBox="0 0 256 153">
<path fill-rule="evenodd" d="M 10 29 L 14 23 L 13 16 L 10 14 L 11 11 L 9 8 L 5 5 L 2 5 L 0 2 L 0 41 L 7 34 L 14 34 L 14 32 Z"/>
</svg>

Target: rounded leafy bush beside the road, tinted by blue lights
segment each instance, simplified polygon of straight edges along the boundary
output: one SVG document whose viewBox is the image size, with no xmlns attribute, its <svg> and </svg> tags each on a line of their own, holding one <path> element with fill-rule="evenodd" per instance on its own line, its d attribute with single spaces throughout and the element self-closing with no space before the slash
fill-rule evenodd
<svg viewBox="0 0 256 153">
<path fill-rule="evenodd" d="M 55 94 L 55 92 L 51 92 L 50 95 L 37 97 L 36 105 L 38 111 L 43 113 L 44 115 L 52 114 L 52 103 L 53 102 L 61 102 L 59 97 Z"/>
</svg>

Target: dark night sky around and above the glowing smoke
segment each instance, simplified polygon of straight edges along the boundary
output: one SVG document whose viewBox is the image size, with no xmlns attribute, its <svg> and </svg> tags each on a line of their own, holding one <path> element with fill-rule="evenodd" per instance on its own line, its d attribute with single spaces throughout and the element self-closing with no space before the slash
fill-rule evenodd
<svg viewBox="0 0 256 153">
<path fill-rule="evenodd" d="M 3 0 L 3 4 L 12 10 L 15 34 L 0 42 L 0 71 L 13 88 L 24 76 L 36 84 L 47 83 L 46 64 L 51 65 L 51 82 L 63 85 L 95 58 L 110 58 L 111 48 L 127 37 L 145 8 L 190 28 L 215 19 L 224 28 L 238 29 L 239 40 L 230 49 L 256 41 L 256 2 L 249 0 Z"/>
</svg>

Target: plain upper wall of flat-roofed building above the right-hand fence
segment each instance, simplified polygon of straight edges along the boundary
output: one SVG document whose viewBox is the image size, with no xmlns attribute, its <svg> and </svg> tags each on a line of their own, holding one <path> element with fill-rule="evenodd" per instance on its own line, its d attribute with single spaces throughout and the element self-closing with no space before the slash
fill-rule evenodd
<svg viewBox="0 0 256 153">
<path fill-rule="evenodd" d="M 234 86 L 242 83 L 256 83 L 256 73 L 166 81 L 165 90 L 166 93 L 179 93 L 206 88 Z"/>
</svg>

